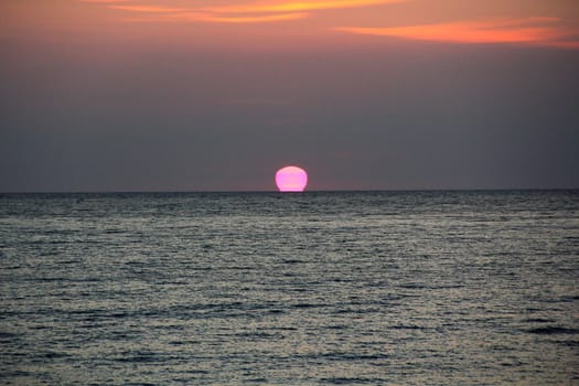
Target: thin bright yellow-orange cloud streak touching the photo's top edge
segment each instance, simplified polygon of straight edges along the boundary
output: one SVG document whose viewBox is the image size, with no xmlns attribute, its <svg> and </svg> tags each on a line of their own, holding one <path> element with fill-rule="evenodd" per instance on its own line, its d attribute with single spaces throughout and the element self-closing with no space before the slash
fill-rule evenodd
<svg viewBox="0 0 579 386">
<path fill-rule="evenodd" d="M 207 8 L 206 11 L 216 13 L 255 13 L 255 12 L 299 12 L 325 9 L 362 8 L 379 6 L 406 0 L 333 0 L 282 3 L 253 3 L 246 6 L 224 6 Z"/>
</svg>

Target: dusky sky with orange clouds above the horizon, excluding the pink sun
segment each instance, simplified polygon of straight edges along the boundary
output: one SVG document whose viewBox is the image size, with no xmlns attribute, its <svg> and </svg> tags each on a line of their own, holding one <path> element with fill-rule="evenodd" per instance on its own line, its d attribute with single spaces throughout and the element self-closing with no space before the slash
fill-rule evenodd
<svg viewBox="0 0 579 386">
<path fill-rule="evenodd" d="M 576 0 L 0 0 L 0 192 L 579 187 Z"/>
</svg>

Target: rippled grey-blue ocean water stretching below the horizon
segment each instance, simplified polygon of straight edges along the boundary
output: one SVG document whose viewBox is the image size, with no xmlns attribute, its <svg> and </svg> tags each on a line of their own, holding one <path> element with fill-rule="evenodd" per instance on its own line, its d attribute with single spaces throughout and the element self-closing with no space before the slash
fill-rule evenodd
<svg viewBox="0 0 579 386">
<path fill-rule="evenodd" d="M 0 196 L 0 384 L 579 385 L 579 191 Z"/>
</svg>

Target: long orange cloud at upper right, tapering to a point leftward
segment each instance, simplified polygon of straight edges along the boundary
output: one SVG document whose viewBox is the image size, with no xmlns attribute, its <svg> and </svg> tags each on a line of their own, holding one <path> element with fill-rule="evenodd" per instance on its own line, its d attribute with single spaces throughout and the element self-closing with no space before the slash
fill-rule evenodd
<svg viewBox="0 0 579 386">
<path fill-rule="evenodd" d="M 339 28 L 336 30 L 355 34 L 449 43 L 528 43 L 573 47 L 578 42 L 565 40 L 577 35 L 577 30 L 559 25 L 538 25 L 558 21 L 554 18 L 494 19 L 395 28 Z"/>
</svg>

